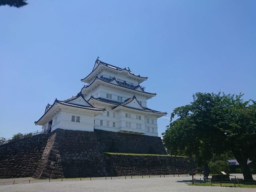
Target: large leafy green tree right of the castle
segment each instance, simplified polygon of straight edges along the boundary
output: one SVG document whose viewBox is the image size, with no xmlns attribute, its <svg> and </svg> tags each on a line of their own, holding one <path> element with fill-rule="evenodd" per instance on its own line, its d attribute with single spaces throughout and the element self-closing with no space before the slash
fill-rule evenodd
<svg viewBox="0 0 256 192">
<path fill-rule="evenodd" d="M 252 180 L 247 159 L 256 154 L 256 103 L 242 96 L 196 93 L 189 105 L 174 109 L 163 133 L 168 153 L 194 157 L 207 169 L 213 154 L 231 150 L 244 179 Z"/>
</svg>

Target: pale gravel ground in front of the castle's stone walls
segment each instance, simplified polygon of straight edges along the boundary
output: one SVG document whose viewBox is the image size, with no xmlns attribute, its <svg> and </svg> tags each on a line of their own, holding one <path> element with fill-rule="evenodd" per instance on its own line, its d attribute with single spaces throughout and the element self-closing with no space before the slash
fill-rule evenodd
<svg viewBox="0 0 256 192">
<path fill-rule="evenodd" d="M 237 177 L 242 178 L 241 174 L 236 174 Z M 199 175 L 196 176 L 197 180 L 200 180 Z M 256 179 L 256 177 L 254 176 Z M 30 180 L 29 181 L 27 180 Z M 97 178 L 74 178 L 74 179 L 61 179 L 58 180 L 34 180 L 32 178 L 15 178 L 15 179 L 1 179 L 0 180 L 0 191 L 1 192 L 15 192 L 15 191 L 26 191 L 26 192 L 37 192 L 37 191 L 54 191 L 54 192 L 69 192 L 69 191 L 177 191 L 177 192 L 236 192 L 246 191 L 255 192 L 255 188 L 234 188 L 234 187 L 195 187 L 188 186 L 191 183 L 192 177 L 189 176 L 127 176 L 124 177 L 97 177 Z M 15 180 L 15 184 L 13 181 Z"/>
</svg>

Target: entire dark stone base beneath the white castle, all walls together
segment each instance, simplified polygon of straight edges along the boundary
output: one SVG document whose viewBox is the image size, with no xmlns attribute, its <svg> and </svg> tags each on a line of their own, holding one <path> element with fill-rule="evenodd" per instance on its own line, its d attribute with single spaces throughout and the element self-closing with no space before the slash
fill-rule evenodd
<svg viewBox="0 0 256 192">
<path fill-rule="evenodd" d="M 157 137 L 56 129 L 48 136 L 34 136 L 0 146 L 0 178 L 181 174 L 194 166 L 182 157 L 100 152 L 166 153 Z"/>
</svg>

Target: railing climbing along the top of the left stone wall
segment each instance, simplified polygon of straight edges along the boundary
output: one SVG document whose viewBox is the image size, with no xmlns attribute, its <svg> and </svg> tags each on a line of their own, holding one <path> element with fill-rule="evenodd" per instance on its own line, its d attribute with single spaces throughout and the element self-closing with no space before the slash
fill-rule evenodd
<svg viewBox="0 0 256 192">
<path fill-rule="evenodd" d="M 34 131 L 34 132 L 30 132 L 30 133 L 17 134 L 17 135 L 14 135 L 12 138 L 0 140 L 0 146 L 7 144 L 7 143 L 12 143 L 16 140 L 31 138 L 33 136 L 40 135 L 40 134 L 46 135 L 50 132 L 51 132 L 51 129 L 44 129 L 44 130 Z"/>
</svg>

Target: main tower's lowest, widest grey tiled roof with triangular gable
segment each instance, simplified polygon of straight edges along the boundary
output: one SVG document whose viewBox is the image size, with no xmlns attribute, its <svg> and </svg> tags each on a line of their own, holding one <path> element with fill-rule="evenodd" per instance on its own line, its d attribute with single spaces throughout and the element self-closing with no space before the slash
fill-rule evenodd
<svg viewBox="0 0 256 192">
<path fill-rule="evenodd" d="M 133 97 L 129 98 L 129 99 L 126 99 L 124 102 L 118 102 L 118 101 L 112 101 L 112 100 L 109 100 L 109 99 L 105 99 L 105 98 L 95 98 L 93 96 L 91 96 L 91 98 L 93 99 L 96 99 L 98 101 L 102 101 L 102 102 L 105 102 L 105 103 L 111 103 L 111 104 L 114 104 L 116 106 L 114 106 L 112 109 L 115 109 L 117 108 L 118 106 L 122 106 L 122 107 L 125 107 L 125 108 L 130 108 L 130 109 L 135 109 L 135 110 L 140 110 L 140 111 L 144 111 L 144 112 L 151 112 L 151 113 L 158 113 L 158 114 L 167 114 L 166 112 L 159 112 L 159 111 L 156 111 L 156 110 L 153 110 L 153 109 L 150 109 L 150 108 L 144 108 L 143 106 L 141 106 L 143 109 L 138 109 L 138 108 L 133 108 L 133 107 L 129 107 L 129 106 L 125 106 L 127 105 L 129 102 L 131 102 L 133 99 L 136 99 L 137 98 L 135 97 L 135 95 L 133 95 Z M 91 99 L 90 98 L 90 99 Z M 90 99 L 88 101 L 90 101 Z M 139 102 L 138 102 L 139 103 Z"/>
</svg>

